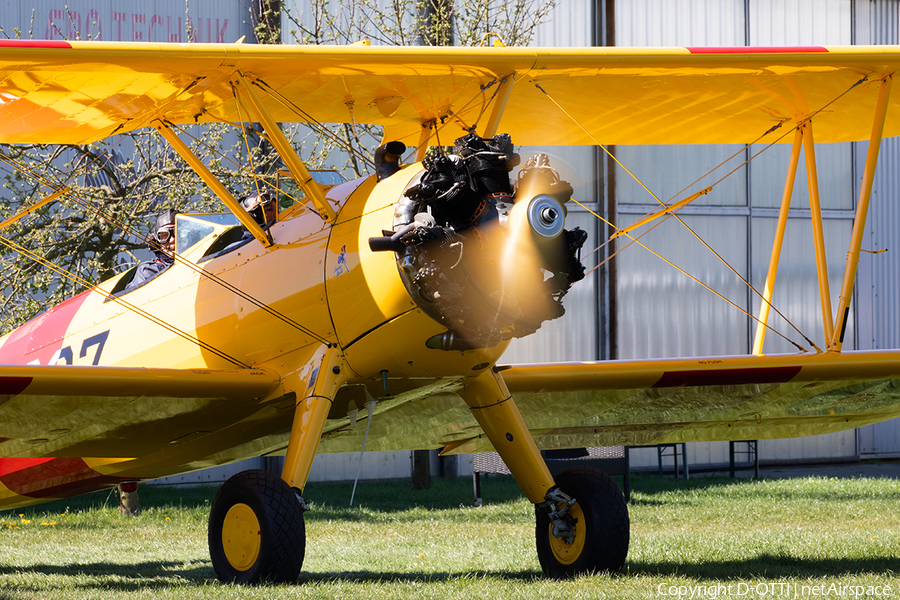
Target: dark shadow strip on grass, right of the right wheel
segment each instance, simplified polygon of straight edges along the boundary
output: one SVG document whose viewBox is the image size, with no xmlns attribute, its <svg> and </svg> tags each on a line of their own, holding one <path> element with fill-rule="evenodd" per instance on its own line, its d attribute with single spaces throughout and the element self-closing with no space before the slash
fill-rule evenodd
<svg viewBox="0 0 900 600">
<path fill-rule="evenodd" d="M 761 554 L 745 561 L 707 561 L 690 564 L 634 561 L 626 563 L 626 575 L 680 576 L 697 580 L 743 580 L 748 577 L 814 578 L 898 572 L 900 572 L 900 558 L 893 557 L 813 559 Z"/>
</svg>

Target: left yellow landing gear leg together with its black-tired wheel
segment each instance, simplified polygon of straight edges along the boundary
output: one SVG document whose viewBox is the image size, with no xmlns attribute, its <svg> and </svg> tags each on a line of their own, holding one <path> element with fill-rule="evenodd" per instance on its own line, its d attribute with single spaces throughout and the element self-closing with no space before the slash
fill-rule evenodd
<svg viewBox="0 0 900 600">
<path fill-rule="evenodd" d="M 209 554 L 225 582 L 296 581 L 306 552 L 300 495 L 338 388 L 346 379 L 336 347 L 321 348 L 282 381 L 297 394 L 294 423 L 281 477 L 243 471 L 225 482 L 209 516 Z"/>
</svg>

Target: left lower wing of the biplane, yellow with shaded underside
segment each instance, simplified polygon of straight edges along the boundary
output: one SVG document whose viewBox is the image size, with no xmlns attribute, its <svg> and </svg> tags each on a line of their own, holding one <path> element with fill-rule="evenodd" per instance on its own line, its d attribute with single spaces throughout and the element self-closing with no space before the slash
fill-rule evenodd
<svg viewBox="0 0 900 600">
<path fill-rule="evenodd" d="M 0 366 L 0 507 L 264 454 L 293 417 L 278 382 L 262 369 Z"/>
</svg>

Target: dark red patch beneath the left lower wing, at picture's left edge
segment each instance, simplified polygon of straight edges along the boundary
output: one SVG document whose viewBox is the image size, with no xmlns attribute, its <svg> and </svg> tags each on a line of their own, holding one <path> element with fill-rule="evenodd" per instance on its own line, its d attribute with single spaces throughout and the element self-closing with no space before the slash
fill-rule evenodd
<svg viewBox="0 0 900 600">
<path fill-rule="evenodd" d="M 65 498 L 119 483 L 101 475 L 80 458 L 2 458 L 0 483 L 20 496 Z"/>
</svg>

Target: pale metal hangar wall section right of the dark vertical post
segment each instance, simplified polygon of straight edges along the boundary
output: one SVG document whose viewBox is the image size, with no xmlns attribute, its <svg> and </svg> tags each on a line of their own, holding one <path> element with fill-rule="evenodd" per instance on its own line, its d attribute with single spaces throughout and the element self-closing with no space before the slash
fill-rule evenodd
<svg viewBox="0 0 900 600">
<path fill-rule="evenodd" d="M 620 0 L 616 3 L 617 45 L 803 45 L 849 44 L 852 40 L 851 0 Z M 790 141 L 790 140 L 788 140 Z M 760 148 L 751 149 L 756 153 Z M 622 162 L 661 199 L 669 201 L 695 177 L 739 148 L 666 147 L 616 148 Z M 829 286 L 840 289 L 843 256 L 853 218 L 853 161 L 849 144 L 816 148 L 825 222 L 826 254 L 831 257 Z M 743 277 L 752 275 L 757 289 L 768 269 L 777 207 L 781 202 L 790 147 L 767 150 L 682 214 L 713 248 L 723 253 Z M 730 169 L 729 169 L 730 170 Z M 718 177 L 716 177 L 718 179 Z M 655 200 L 627 173 L 616 174 L 620 224 L 633 222 L 654 209 Z M 684 197 L 707 185 L 698 182 Z M 774 304 L 820 346 L 822 319 L 805 172 L 798 174 L 791 219 Z M 722 293 L 735 304 L 758 311 L 759 300 L 731 270 L 700 246 L 682 225 L 668 222 L 642 239 L 672 262 Z M 749 318 L 711 292 L 641 248 L 623 252 L 618 265 L 618 357 L 690 356 L 747 353 L 754 327 Z M 779 317 L 771 324 L 792 339 L 796 335 Z M 852 324 L 851 324 L 852 326 Z M 848 339 L 852 339 L 852 333 Z M 852 344 L 851 344 L 852 345 Z M 824 347 L 824 346 L 823 346 Z M 795 352 L 778 336 L 766 337 L 766 352 Z M 829 460 L 856 454 L 853 431 L 795 440 L 763 440 L 763 459 Z M 727 461 L 727 444 L 689 444 L 693 464 Z M 636 451 L 637 464 L 656 464 L 653 450 Z"/>
</svg>

